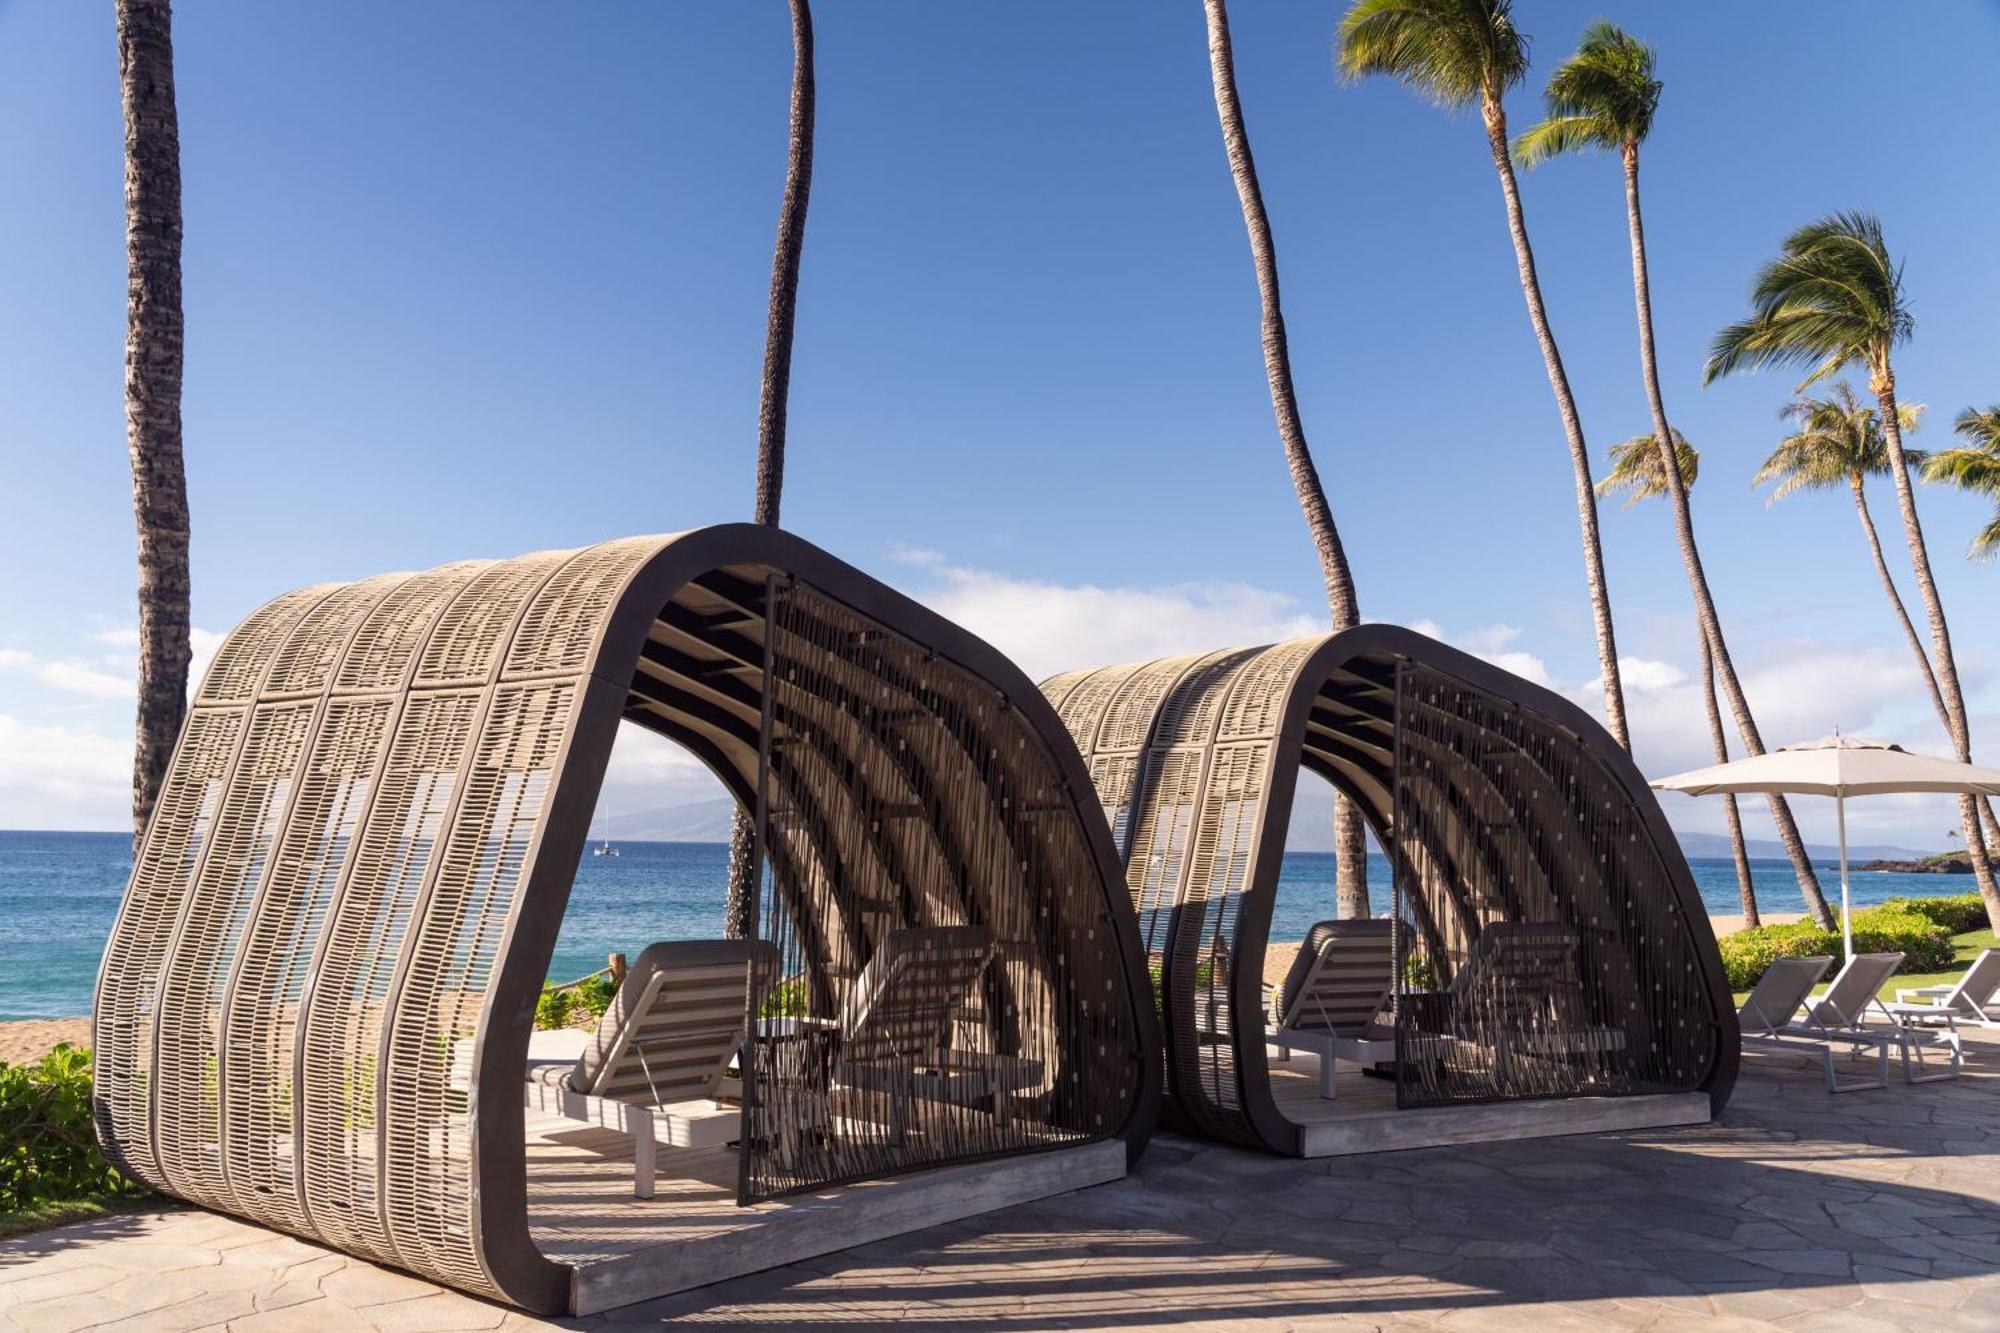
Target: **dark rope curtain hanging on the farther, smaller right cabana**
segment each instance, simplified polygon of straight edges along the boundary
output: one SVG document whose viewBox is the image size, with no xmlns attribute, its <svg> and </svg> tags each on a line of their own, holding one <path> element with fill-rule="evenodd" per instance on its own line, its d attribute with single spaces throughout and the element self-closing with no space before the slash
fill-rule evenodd
<svg viewBox="0 0 2000 1333">
<path fill-rule="evenodd" d="M 1698 1087 L 1716 1013 L 1668 867 L 1580 739 L 1396 671 L 1396 1105 Z"/>
</svg>

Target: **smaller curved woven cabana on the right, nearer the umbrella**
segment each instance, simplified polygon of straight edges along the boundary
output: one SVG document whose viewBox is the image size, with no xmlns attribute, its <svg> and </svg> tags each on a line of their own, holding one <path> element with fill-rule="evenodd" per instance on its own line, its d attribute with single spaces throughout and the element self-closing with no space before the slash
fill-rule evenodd
<svg viewBox="0 0 2000 1333">
<path fill-rule="evenodd" d="M 1572 703 L 1388 624 L 1042 691 L 1126 863 L 1172 1123 L 1320 1157 L 1728 1099 L 1736 1019 L 1686 861 Z M 1394 915 L 1314 927 L 1266 989 L 1300 769 L 1358 803 Z"/>
</svg>

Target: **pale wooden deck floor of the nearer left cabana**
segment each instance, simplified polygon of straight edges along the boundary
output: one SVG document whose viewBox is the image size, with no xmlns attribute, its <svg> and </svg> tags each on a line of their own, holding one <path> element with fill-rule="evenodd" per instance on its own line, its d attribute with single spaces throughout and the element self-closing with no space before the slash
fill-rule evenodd
<svg viewBox="0 0 2000 1333">
<path fill-rule="evenodd" d="M 654 1199 L 632 1197 L 632 1141 L 528 1113 L 528 1229 L 574 1267 L 578 1315 L 774 1269 L 1126 1173 L 1122 1141 L 864 1181 L 736 1205 L 734 1149 L 662 1151 Z"/>
</svg>

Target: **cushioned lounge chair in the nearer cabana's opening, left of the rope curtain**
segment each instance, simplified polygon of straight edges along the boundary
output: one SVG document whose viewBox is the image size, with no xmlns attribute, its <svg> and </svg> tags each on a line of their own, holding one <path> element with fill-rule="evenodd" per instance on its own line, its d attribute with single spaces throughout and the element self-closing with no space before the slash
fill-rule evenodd
<svg viewBox="0 0 2000 1333">
<path fill-rule="evenodd" d="M 656 1147 L 722 1147 L 738 1135 L 742 1109 L 718 1095 L 744 1039 L 752 965 L 768 981 L 776 947 L 738 939 L 652 945 L 634 959 L 596 1033 L 578 1035 L 574 1061 L 552 1041 L 530 1047 L 528 1107 L 630 1135 L 632 1197 L 652 1199 Z"/>
</svg>

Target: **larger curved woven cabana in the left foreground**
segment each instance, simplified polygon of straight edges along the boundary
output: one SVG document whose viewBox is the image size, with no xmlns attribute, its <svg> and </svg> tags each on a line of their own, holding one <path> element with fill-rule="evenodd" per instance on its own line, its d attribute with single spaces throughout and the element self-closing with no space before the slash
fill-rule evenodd
<svg viewBox="0 0 2000 1333">
<path fill-rule="evenodd" d="M 754 811 L 758 911 L 642 953 L 552 1071 L 532 1017 L 620 721 Z M 1032 683 L 736 524 L 244 620 L 104 955 L 94 1097 L 170 1195 L 588 1313 L 1118 1179 L 1156 1047 Z"/>
</svg>

